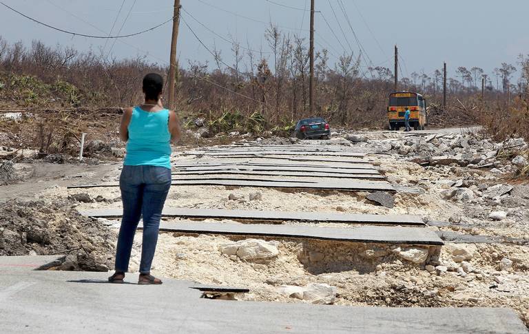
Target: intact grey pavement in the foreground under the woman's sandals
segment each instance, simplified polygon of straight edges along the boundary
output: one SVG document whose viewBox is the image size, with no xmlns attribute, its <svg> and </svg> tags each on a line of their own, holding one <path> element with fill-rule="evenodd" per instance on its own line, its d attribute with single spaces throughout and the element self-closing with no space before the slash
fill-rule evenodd
<svg viewBox="0 0 529 334">
<path fill-rule="evenodd" d="M 206 300 L 185 281 L 138 286 L 107 284 L 105 273 L 1 271 L 0 333 L 527 333 L 508 309 Z"/>
</svg>

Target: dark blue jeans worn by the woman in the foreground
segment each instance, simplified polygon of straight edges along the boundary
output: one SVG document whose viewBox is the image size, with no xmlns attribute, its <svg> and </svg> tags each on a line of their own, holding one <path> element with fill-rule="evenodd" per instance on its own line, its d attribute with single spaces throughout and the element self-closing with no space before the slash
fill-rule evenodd
<svg viewBox="0 0 529 334">
<path fill-rule="evenodd" d="M 163 204 L 171 187 L 171 169 L 155 166 L 123 166 L 119 178 L 123 219 L 116 250 L 116 271 L 129 269 L 134 234 L 143 216 L 140 273 L 150 273 Z"/>
</svg>

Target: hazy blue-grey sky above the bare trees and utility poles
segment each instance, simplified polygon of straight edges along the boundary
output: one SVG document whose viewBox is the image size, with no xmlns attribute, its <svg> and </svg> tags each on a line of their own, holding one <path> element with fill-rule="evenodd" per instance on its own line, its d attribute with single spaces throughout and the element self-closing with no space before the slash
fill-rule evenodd
<svg viewBox="0 0 529 334">
<path fill-rule="evenodd" d="M 131 34 L 167 21 L 172 17 L 174 3 L 173 0 L 1 1 L 57 28 L 105 36 L 113 26 L 114 34 L 122 26 L 121 34 Z M 267 52 L 264 31 L 270 22 L 284 33 L 298 34 L 309 42 L 310 0 L 181 0 L 181 4 L 184 11 L 177 53 L 183 66 L 189 61 L 208 61 L 214 65 L 213 56 L 185 22 L 208 48 L 221 50 L 222 59 L 228 64 L 234 63 L 234 57 L 231 44 L 224 39 L 236 39 L 245 47 L 249 44 L 253 50 Z M 519 54 L 529 54 L 526 19 L 529 0 L 315 0 L 315 6 L 320 11 L 315 13 L 315 48 L 328 49 L 331 63 L 344 52 L 358 55 L 362 48 L 362 66 L 381 65 L 393 70 L 393 47 L 398 45 L 401 76 L 409 77 L 411 72 L 431 76 L 442 68 L 444 61 L 448 75 L 454 76 L 458 66 L 482 67 L 488 74 L 503 62 L 518 67 Z M 78 50 L 92 49 L 118 59 L 147 55 L 149 61 L 166 65 L 171 33 L 172 25 L 167 23 L 114 43 L 57 32 L 0 5 L 0 35 L 10 43 L 22 41 L 30 45 L 38 39 L 48 45 L 59 43 Z"/>
</svg>

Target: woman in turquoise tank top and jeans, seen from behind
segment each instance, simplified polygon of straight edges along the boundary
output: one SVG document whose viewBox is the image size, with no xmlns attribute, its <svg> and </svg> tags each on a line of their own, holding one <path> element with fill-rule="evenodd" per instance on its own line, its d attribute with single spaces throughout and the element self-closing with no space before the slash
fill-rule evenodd
<svg viewBox="0 0 529 334">
<path fill-rule="evenodd" d="M 116 272 L 108 278 L 112 283 L 123 283 L 136 227 L 143 216 L 138 284 L 162 284 L 150 271 L 162 209 L 171 187 L 170 143 L 180 139 L 175 112 L 162 106 L 162 90 L 162 77 L 147 74 L 143 78 L 145 103 L 125 109 L 121 119 L 119 135 L 127 143 L 127 154 L 119 178 L 123 219 L 116 250 Z"/>
</svg>

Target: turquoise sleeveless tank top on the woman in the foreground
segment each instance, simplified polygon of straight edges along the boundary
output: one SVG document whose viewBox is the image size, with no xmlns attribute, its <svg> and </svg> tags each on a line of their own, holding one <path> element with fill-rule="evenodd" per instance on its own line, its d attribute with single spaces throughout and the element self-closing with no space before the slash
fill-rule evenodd
<svg viewBox="0 0 529 334">
<path fill-rule="evenodd" d="M 169 110 L 146 112 L 141 107 L 134 107 L 128 130 L 129 140 L 123 165 L 171 169 Z"/>
</svg>

